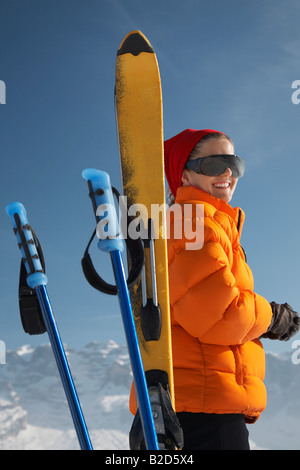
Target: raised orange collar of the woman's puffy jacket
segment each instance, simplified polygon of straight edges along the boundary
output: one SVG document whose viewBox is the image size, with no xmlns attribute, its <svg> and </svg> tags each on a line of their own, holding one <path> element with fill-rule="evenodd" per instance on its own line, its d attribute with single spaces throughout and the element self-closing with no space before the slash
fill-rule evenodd
<svg viewBox="0 0 300 470">
<path fill-rule="evenodd" d="M 175 202 L 186 202 L 186 201 L 195 201 L 195 202 L 206 202 L 207 204 L 212 205 L 218 211 L 225 212 L 228 214 L 233 221 L 235 222 L 239 234 L 241 234 L 245 213 L 239 207 L 232 207 L 223 199 L 219 199 L 215 196 L 212 196 L 206 191 L 197 188 L 196 186 L 181 186 L 177 189 L 176 200 Z"/>
</svg>

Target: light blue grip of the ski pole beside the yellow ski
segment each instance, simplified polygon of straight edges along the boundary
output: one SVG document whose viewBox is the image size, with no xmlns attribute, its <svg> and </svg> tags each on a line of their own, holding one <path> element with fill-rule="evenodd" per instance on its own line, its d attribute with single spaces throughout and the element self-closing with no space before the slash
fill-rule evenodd
<svg viewBox="0 0 300 470">
<path fill-rule="evenodd" d="M 105 252 L 123 251 L 124 240 L 119 231 L 116 206 L 108 173 L 87 168 L 82 172 L 82 176 L 89 185 L 97 222 L 98 248 Z"/>
</svg>

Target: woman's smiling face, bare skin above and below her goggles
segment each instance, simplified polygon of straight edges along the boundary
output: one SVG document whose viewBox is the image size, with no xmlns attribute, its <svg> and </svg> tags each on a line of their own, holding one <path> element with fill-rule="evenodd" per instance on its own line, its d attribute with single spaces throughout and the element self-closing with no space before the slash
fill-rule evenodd
<svg viewBox="0 0 300 470">
<path fill-rule="evenodd" d="M 234 147 L 227 139 L 209 139 L 202 142 L 199 152 L 193 159 L 209 155 L 234 154 Z M 185 169 L 182 174 L 183 186 L 193 185 L 210 193 L 212 196 L 230 202 L 237 185 L 238 178 L 232 176 L 230 168 L 221 176 L 199 175 L 191 169 Z"/>
</svg>

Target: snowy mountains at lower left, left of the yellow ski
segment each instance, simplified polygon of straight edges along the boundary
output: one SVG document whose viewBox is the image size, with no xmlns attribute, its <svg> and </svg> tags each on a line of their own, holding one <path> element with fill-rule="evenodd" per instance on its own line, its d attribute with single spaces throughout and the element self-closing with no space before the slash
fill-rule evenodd
<svg viewBox="0 0 300 470">
<path fill-rule="evenodd" d="M 66 353 L 94 449 L 128 449 L 127 348 L 108 341 Z M 79 449 L 51 346 L 8 351 L 0 368 L 0 449 Z"/>
</svg>

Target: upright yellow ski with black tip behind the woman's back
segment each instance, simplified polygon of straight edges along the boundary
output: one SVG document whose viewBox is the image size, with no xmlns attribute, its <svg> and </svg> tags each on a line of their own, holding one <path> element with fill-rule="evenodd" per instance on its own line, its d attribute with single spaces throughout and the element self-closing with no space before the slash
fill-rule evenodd
<svg viewBox="0 0 300 470">
<path fill-rule="evenodd" d="M 119 47 L 115 103 L 123 194 L 145 251 L 144 275 L 131 290 L 132 309 L 152 409 L 157 406 L 165 427 L 171 428 L 165 430 L 164 445 L 172 448 L 170 441 L 175 441 L 180 447 L 174 413 L 161 83 L 154 50 L 140 31 L 129 33 Z M 163 395 L 162 400 L 168 396 L 168 412 L 157 405 L 155 387 Z M 173 425 L 166 423 L 166 414 Z M 132 449 L 140 448 L 135 424 Z"/>
</svg>

